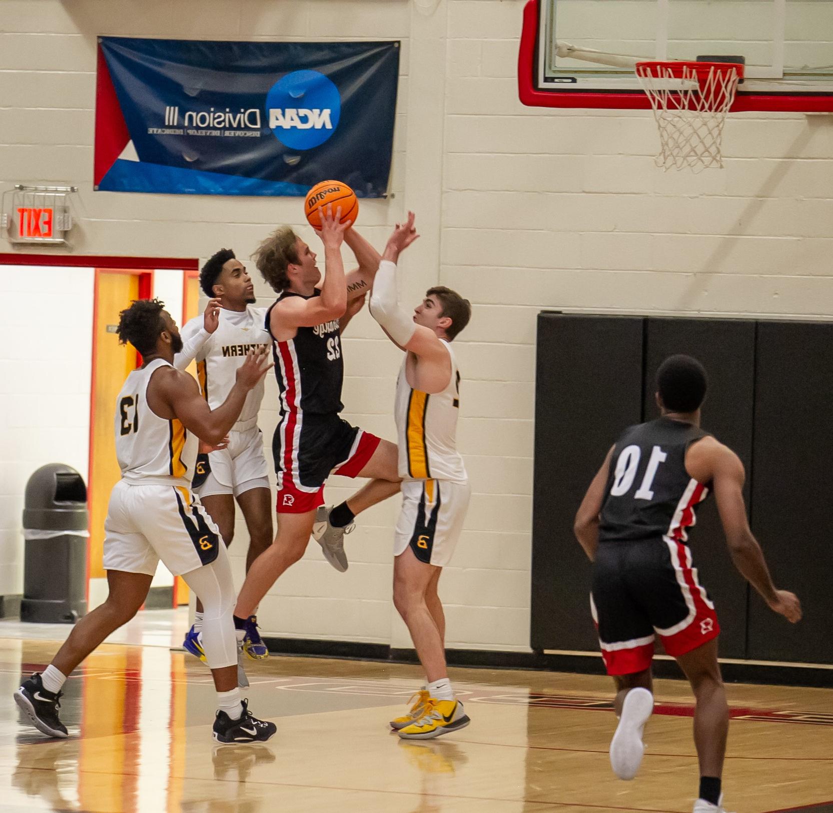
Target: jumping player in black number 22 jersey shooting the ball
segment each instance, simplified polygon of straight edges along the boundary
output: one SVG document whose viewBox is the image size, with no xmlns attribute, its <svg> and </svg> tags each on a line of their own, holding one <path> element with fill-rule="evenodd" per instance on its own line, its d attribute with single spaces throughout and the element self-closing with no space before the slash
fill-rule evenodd
<svg viewBox="0 0 833 813">
<path fill-rule="evenodd" d="M 327 274 L 321 287 L 315 252 L 291 228 L 277 229 L 255 253 L 258 270 L 279 294 L 266 317 L 280 390 L 281 418 L 272 441 L 278 523 L 275 541 L 252 562 L 237 598 L 238 626 L 287 567 L 304 555 L 331 473 L 370 478 L 350 498 L 349 507 L 338 506 L 349 515 L 345 526 L 400 487 L 396 444 L 351 426 L 338 414 L 343 408 L 341 334 L 361 309 L 379 267 L 375 249 L 349 222 L 340 224 L 340 217 L 340 209 L 332 212 L 328 207 L 322 213 L 319 236 Z M 347 275 L 342 242 L 359 263 Z M 333 566 L 347 570 L 341 538 L 334 549 L 322 547 Z"/>
</svg>

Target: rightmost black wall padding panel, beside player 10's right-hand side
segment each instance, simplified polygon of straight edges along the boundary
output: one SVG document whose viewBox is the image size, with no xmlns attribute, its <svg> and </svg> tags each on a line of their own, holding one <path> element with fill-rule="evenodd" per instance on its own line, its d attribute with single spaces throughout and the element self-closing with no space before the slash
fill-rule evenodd
<svg viewBox="0 0 833 813">
<path fill-rule="evenodd" d="M 833 663 L 833 324 L 759 322 L 756 358 L 752 530 L 805 616 L 751 596 L 749 657 Z"/>
</svg>

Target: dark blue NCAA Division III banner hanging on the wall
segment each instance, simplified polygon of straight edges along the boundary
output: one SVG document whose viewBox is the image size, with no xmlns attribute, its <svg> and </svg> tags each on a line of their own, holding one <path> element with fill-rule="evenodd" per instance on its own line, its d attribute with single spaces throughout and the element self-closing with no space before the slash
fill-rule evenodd
<svg viewBox="0 0 833 813">
<path fill-rule="evenodd" d="M 100 37 L 95 188 L 387 192 L 399 42 Z"/>
</svg>

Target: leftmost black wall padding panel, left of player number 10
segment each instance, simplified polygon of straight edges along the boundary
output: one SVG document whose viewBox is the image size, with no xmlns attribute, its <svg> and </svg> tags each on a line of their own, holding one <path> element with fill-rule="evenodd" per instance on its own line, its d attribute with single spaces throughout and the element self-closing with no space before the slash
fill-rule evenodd
<svg viewBox="0 0 833 813">
<path fill-rule="evenodd" d="M 596 650 L 576 510 L 607 450 L 641 420 L 641 317 L 541 313 L 536 359 L 531 647 Z"/>
</svg>

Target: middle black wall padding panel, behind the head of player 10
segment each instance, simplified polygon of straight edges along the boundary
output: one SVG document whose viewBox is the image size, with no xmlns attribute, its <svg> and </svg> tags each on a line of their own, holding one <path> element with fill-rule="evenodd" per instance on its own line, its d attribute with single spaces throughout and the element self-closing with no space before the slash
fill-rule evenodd
<svg viewBox="0 0 833 813">
<path fill-rule="evenodd" d="M 747 473 L 752 457 L 755 328 L 755 322 L 740 319 L 646 319 L 645 420 L 660 414 L 654 397 L 657 368 L 676 353 L 695 357 L 709 376 L 702 426 L 737 452 Z M 748 476 L 744 497 L 748 509 Z M 714 496 L 697 509 L 689 541 L 701 585 L 715 602 L 721 622 L 720 654 L 744 658 L 748 586 L 731 563 Z"/>
</svg>

